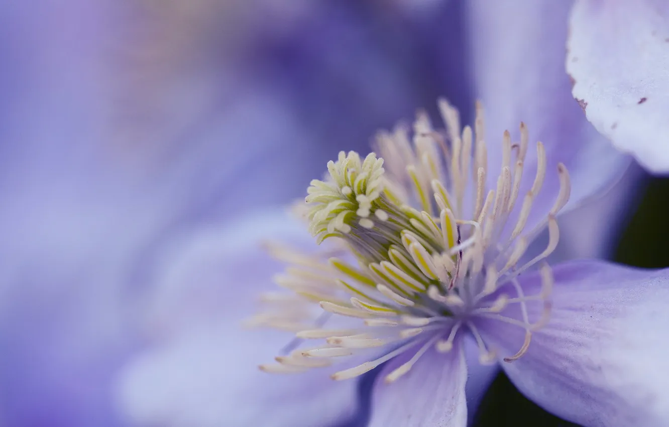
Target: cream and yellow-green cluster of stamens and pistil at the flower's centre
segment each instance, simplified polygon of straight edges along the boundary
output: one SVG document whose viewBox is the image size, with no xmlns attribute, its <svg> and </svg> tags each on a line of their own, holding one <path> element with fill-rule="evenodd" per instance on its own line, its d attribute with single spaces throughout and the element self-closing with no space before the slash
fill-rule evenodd
<svg viewBox="0 0 669 427">
<path fill-rule="evenodd" d="M 385 377 L 391 383 L 430 348 L 453 351 L 464 335 L 476 341 L 480 363 L 512 362 L 528 351 L 551 312 L 553 274 L 545 258 L 559 240 L 555 216 L 569 200 L 569 173 L 561 163 L 551 172 L 560 182 L 555 203 L 526 230 L 548 173 L 543 144 L 532 147 L 536 172 L 521 194 L 531 149 L 527 126 L 520 123 L 518 142 L 504 132 L 501 158 L 489 165 L 482 106 L 476 106 L 474 129 L 460 126 L 458 110 L 446 100 L 438 106 L 446 129 L 433 129 L 419 112 L 413 133 L 402 126 L 379 133 L 373 153 L 363 159 L 341 152 L 328 163 L 326 178 L 310 183 L 297 210 L 328 249 L 269 246 L 288 264 L 274 281 L 290 293 L 263 294 L 267 309 L 250 323 L 296 338 L 276 363 L 260 369 L 296 373 L 337 364 L 343 369 L 332 378 L 348 379 L 411 351 L 413 357 Z M 547 247 L 527 254 L 544 226 Z M 525 294 L 518 282 L 529 268 L 540 272 L 537 294 Z M 542 305 L 539 319 L 529 318 L 529 304 Z M 511 305 L 520 315 L 505 314 Z M 522 328 L 524 343 L 514 355 L 498 355 L 477 319 Z"/>
</svg>

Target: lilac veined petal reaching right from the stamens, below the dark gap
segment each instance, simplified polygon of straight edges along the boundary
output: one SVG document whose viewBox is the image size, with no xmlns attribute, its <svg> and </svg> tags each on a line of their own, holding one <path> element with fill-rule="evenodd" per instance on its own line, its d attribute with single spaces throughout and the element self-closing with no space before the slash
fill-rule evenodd
<svg viewBox="0 0 669 427">
<path fill-rule="evenodd" d="M 549 412 L 584 426 L 669 425 L 669 270 L 578 261 L 560 264 L 554 276 L 549 323 L 520 359 L 502 362 L 511 381 Z M 536 274 L 520 278 L 526 294 L 538 292 Z M 536 319 L 541 307 L 528 311 Z M 502 314 L 520 319 L 517 305 Z M 496 320 L 478 327 L 501 356 L 523 342 L 520 327 Z"/>
</svg>

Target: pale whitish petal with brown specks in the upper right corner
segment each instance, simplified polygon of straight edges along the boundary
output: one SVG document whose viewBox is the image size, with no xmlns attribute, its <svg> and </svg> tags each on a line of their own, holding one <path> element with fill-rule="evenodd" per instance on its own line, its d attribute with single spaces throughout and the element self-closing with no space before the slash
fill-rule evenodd
<svg viewBox="0 0 669 427">
<path fill-rule="evenodd" d="M 647 169 L 669 172 L 669 3 L 575 2 L 567 72 L 597 131 Z"/>
</svg>

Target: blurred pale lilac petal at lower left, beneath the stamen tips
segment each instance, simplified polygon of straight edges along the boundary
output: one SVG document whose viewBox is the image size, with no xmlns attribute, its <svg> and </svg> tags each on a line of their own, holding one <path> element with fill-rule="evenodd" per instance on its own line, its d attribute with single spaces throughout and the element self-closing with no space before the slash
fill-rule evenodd
<svg viewBox="0 0 669 427">
<path fill-rule="evenodd" d="M 279 375 L 271 362 L 285 334 L 209 325 L 180 334 L 135 359 L 119 402 L 140 426 L 332 426 L 357 410 L 357 382 L 333 381 L 322 369 Z"/>
</svg>

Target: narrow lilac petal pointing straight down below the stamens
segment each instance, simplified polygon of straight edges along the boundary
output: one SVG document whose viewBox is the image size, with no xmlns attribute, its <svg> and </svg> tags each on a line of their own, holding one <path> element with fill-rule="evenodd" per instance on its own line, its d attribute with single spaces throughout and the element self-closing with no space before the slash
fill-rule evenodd
<svg viewBox="0 0 669 427">
<path fill-rule="evenodd" d="M 467 364 L 462 349 L 438 353 L 434 347 L 393 383 L 385 377 L 413 352 L 389 361 L 372 390 L 370 427 L 466 426 Z"/>
</svg>

